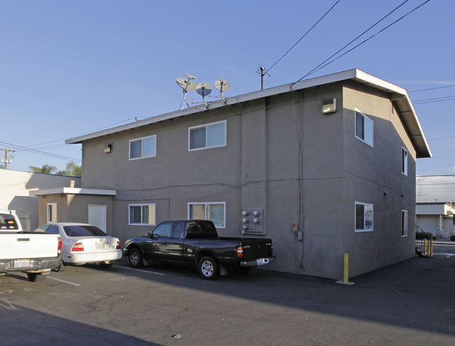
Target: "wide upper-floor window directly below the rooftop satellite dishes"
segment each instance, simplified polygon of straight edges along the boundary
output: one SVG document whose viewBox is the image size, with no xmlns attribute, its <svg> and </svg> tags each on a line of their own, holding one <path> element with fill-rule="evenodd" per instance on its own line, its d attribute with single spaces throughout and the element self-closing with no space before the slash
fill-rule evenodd
<svg viewBox="0 0 455 346">
<path fill-rule="evenodd" d="M 226 120 L 190 127 L 188 131 L 190 151 L 226 145 Z"/>
</svg>

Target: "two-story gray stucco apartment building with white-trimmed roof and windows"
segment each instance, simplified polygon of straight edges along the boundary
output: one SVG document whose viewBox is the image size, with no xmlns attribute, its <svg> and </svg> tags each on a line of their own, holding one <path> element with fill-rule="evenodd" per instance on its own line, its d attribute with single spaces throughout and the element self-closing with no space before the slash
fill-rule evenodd
<svg viewBox="0 0 455 346">
<path fill-rule="evenodd" d="M 108 233 L 122 242 L 201 218 L 271 237 L 272 270 L 340 279 L 346 253 L 351 277 L 414 256 L 416 158 L 430 149 L 406 90 L 358 69 L 66 143 L 82 144 L 83 189 L 115 191 Z"/>
</svg>

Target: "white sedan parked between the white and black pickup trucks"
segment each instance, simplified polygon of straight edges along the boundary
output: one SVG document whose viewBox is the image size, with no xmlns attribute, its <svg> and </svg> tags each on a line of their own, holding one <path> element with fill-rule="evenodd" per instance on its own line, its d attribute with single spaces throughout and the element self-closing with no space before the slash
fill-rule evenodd
<svg viewBox="0 0 455 346">
<path fill-rule="evenodd" d="M 106 235 L 97 226 L 87 223 L 46 223 L 36 228 L 35 232 L 60 235 L 64 265 L 99 263 L 103 268 L 110 268 L 122 258 L 118 238 Z M 53 270 L 58 271 L 60 267 Z"/>
</svg>

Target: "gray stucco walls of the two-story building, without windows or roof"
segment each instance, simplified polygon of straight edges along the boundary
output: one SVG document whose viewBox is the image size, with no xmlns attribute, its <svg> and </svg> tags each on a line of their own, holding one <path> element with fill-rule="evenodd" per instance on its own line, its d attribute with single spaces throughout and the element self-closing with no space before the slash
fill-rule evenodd
<svg viewBox="0 0 455 346">
<path fill-rule="evenodd" d="M 321 102 L 333 97 L 337 111 L 324 115 Z M 90 139 L 83 142 L 83 187 L 117 191 L 112 231 L 122 242 L 153 228 L 128 224 L 130 204 L 155 203 L 159 223 L 186 219 L 188 202 L 225 202 L 221 235 L 242 235 L 241 209 L 263 209 L 265 234 L 256 237 L 274 241 L 277 261 L 269 269 L 340 279 L 349 253 L 350 276 L 359 275 L 413 254 L 416 155 L 391 106 L 385 93 L 335 83 Z M 374 122 L 373 147 L 355 137 L 355 108 Z M 188 127 L 220 120 L 226 146 L 188 151 Z M 129 160 L 130 139 L 153 134 L 157 156 Z M 103 153 L 105 144 L 112 153 Z M 374 205 L 373 232 L 355 232 L 355 202 Z M 402 209 L 408 237 L 400 234 Z"/>
</svg>

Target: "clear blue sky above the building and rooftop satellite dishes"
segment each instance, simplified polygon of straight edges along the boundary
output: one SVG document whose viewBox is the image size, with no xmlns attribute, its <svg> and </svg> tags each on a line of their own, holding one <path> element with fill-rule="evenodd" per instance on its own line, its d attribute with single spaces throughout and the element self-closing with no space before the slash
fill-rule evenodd
<svg viewBox="0 0 455 346">
<path fill-rule="evenodd" d="M 80 160 L 80 145 L 64 139 L 176 111 L 185 73 L 212 87 L 226 78 L 227 97 L 259 90 L 260 64 L 272 67 L 265 88 L 295 82 L 403 1 L 339 1 L 272 67 L 336 0 L 0 0 L 0 148 Z M 407 1 L 356 43 L 423 2 Z M 454 13 L 455 1 L 430 0 L 309 76 L 358 68 L 406 88 L 433 151 L 417 174 L 455 174 Z M 412 92 L 428 88 L 438 89 Z M 8 169 L 66 166 L 15 150 Z"/>
</svg>

